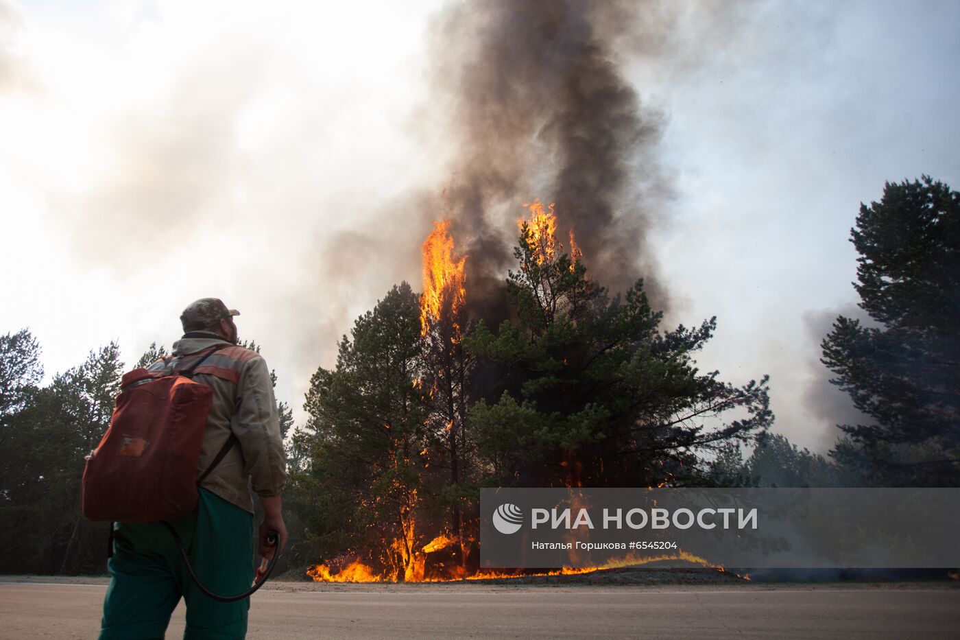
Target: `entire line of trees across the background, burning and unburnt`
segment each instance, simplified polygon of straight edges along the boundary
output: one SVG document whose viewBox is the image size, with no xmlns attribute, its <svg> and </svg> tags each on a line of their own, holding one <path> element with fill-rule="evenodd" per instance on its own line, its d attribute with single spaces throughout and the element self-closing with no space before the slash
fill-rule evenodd
<svg viewBox="0 0 960 640">
<path fill-rule="evenodd" d="M 305 424 L 281 404 L 281 570 L 467 575 L 485 486 L 958 485 L 960 194 L 947 185 L 887 184 L 856 218 L 870 321 L 838 317 L 822 359 L 866 424 L 839 425 L 827 457 L 770 431 L 765 376 L 697 368 L 714 318 L 664 328 L 642 281 L 604 289 L 551 216 L 532 209 L 520 227 L 506 319 L 470 301 L 438 225 L 424 291 L 399 283 L 356 319 L 310 381 Z M 29 330 L 0 335 L 0 573 L 104 572 L 107 526 L 80 513 L 84 455 L 124 371 L 164 355 L 152 345 L 125 366 L 111 342 L 47 380 Z"/>
</svg>

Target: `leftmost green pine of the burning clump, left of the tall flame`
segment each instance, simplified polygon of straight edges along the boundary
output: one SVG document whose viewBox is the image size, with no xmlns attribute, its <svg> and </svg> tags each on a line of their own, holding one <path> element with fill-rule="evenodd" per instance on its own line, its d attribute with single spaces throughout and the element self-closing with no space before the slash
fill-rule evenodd
<svg viewBox="0 0 960 640">
<path fill-rule="evenodd" d="M 305 517 L 315 559 L 369 551 L 368 564 L 402 579 L 419 553 L 414 516 L 429 439 L 421 350 L 419 298 L 401 283 L 357 318 L 336 368 L 314 374 L 310 417 L 295 436 L 308 461 L 293 481 L 315 492 Z"/>
</svg>

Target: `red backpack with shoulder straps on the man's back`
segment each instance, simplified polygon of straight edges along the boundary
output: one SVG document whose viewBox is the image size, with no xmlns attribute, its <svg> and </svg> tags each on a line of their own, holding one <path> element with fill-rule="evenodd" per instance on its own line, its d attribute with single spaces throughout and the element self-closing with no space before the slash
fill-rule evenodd
<svg viewBox="0 0 960 640">
<path fill-rule="evenodd" d="M 189 369 L 124 375 L 110 426 L 84 466 L 84 517 L 124 523 L 176 520 L 197 506 L 197 485 L 228 454 L 227 444 L 197 478 L 206 417 L 213 392 L 193 382 L 193 371 L 216 345 L 193 354 Z"/>
</svg>

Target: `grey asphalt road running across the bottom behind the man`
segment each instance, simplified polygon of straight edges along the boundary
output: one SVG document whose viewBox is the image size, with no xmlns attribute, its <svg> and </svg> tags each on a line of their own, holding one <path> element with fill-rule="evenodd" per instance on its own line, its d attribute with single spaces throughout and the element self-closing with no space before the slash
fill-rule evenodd
<svg viewBox="0 0 960 640">
<path fill-rule="evenodd" d="M 95 638 L 105 589 L 0 583 L 0 638 Z M 296 589 L 253 596 L 249 638 L 960 637 L 960 589 L 937 587 Z"/>
</svg>

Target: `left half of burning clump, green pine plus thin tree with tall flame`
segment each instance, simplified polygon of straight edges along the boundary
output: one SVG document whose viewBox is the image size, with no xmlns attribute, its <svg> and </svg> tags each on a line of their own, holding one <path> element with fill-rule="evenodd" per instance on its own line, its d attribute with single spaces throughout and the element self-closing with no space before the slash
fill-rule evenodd
<svg viewBox="0 0 960 640">
<path fill-rule="evenodd" d="M 423 243 L 423 293 L 395 286 L 341 341 L 336 369 L 313 378 L 309 476 L 334 511 L 313 542 L 336 550 L 315 578 L 465 575 L 466 258 L 454 258 L 448 224 Z"/>
</svg>

